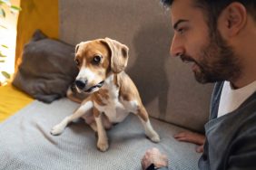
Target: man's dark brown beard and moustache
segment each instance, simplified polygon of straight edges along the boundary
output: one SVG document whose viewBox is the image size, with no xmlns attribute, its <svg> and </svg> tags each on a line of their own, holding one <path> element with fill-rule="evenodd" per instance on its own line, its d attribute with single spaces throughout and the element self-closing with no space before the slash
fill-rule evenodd
<svg viewBox="0 0 256 170">
<path fill-rule="evenodd" d="M 236 80 L 241 76 L 241 62 L 218 31 L 201 52 L 198 61 L 185 54 L 181 56 L 182 61 L 193 61 L 199 67 L 194 71 L 198 82 Z"/>
</svg>

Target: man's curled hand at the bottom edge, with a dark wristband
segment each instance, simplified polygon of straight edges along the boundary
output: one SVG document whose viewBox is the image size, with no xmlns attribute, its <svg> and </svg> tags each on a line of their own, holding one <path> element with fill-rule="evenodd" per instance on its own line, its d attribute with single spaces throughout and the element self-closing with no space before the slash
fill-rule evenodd
<svg viewBox="0 0 256 170">
<path fill-rule="evenodd" d="M 152 164 L 154 164 L 156 167 L 168 166 L 167 156 L 161 154 L 161 152 L 155 147 L 148 149 L 143 156 L 143 170 Z"/>
</svg>

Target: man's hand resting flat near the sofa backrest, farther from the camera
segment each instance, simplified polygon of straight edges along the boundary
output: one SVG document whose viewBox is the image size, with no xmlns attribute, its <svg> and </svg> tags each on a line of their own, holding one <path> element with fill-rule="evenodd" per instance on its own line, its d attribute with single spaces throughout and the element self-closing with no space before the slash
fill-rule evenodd
<svg viewBox="0 0 256 170">
<path fill-rule="evenodd" d="M 181 132 L 174 135 L 174 138 L 182 142 L 190 142 L 190 143 L 199 145 L 198 147 L 196 147 L 196 152 L 198 153 L 203 152 L 203 144 L 204 144 L 205 136 L 199 133 L 194 133 L 189 131 Z"/>
</svg>

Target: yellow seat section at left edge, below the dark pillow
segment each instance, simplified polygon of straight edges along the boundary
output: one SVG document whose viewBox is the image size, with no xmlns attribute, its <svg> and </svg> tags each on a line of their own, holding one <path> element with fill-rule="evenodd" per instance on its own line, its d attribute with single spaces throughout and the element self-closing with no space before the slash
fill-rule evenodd
<svg viewBox="0 0 256 170">
<path fill-rule="evenodd" d="M 11 84 L 0 87 L 0 122 L 15 114 L 19 109 L 24 108 L 34 99 L 17 90 Z"/>
</svg>

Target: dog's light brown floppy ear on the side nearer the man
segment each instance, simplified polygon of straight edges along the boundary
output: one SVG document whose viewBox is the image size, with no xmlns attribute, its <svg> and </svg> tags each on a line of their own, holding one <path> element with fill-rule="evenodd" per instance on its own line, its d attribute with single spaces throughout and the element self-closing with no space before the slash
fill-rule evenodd
<svg viewBox="0 0 256 170">
<path fill-rule="evenodd" d="M 128 62 L 128 51 L 129 48 L 115 40 L 110 38 L 103 39 L 111 50 L 111 69 L 114 73 L 119 73 L 125 69 Z"/>
</svg>

